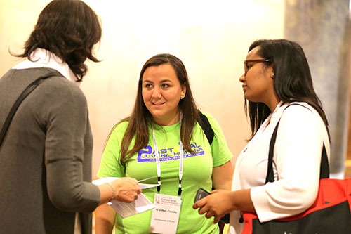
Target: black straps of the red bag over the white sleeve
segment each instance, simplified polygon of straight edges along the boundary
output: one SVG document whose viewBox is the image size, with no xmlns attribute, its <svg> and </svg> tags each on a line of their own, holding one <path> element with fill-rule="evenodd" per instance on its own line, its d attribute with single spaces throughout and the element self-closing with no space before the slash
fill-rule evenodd
<svg viewBox="0 0 351 234">
<path fill-rule="evenodd" d="M 290 104 L 290 105 L 300 105 L 300 104 Z M 288 105 L 286 108 L 289 108 L 290 105 Z M 301 105 L 301 106 L 306 108 L 304 105 Z M 274 144 L 275 144 L 275 140 L 277 138 L 279 122 L 280 122 L 280 119 L 277 123 L 277 126 L 275 126 L 273 134 L 272 134 L 272 138 L 270 139 L 270 151 L 268 153 L 267 176 L 265 178 L 265 183 L 274 182 L 273 154 L 274 154 Z M 325 148 L 324 143 L 323 143 L 323 149 L 322 149 L 322 160 L 321 160 L 321 168 L 320 168 L 319 178 L 320 179 L 329 178 L 329 163 L 328 163 L 328 157 L 326 155 L 326 148 Z"/>
</svg>

